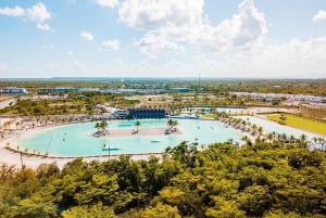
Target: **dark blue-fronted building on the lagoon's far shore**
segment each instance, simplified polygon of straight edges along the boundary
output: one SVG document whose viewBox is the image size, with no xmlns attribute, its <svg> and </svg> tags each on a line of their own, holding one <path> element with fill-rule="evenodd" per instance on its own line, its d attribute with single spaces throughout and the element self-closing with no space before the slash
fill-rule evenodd
<svg viewBox="0 0 326 218">
<path fill-rule="evenodd" d="M 161 119 L 166 118 L 163 108 L 129 108 L 129 117 L 134 119 Z"/>
</svg>

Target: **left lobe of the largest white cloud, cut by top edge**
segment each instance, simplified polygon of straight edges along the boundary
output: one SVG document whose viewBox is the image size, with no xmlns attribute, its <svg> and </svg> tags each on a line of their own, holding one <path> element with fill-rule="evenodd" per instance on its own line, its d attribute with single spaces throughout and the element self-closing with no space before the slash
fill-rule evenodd
<svg viewBox="0 0 326 218">
<path fill-rule="evenodd" d="M 203 0 L 126 0 L 118 10 L 128 26 L 176 40 L 198 37 Z"/>
</svg>

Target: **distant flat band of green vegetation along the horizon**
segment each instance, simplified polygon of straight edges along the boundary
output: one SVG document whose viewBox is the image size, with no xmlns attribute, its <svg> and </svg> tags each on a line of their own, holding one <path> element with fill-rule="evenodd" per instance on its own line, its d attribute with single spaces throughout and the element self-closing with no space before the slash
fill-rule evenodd
<svg viewBox="0 0 326 218">
<path fill-rule="evenodd" d="M 198 79 L 126 78 L 122 81 L 120 78 L 54 78 L 25 80 L 3 79 L 0 81 L 0 87 L 25 87 L 30 93 L 36 93 L 39 88 L 43 87 L 168 89 L 185 86 L 197 91 Z M 201 78 L 200 86 L 201 93 L 214 93 L 216 95 L 226 95 L 231 91 L 326 95 L 325 79 Z"/>
</svg>

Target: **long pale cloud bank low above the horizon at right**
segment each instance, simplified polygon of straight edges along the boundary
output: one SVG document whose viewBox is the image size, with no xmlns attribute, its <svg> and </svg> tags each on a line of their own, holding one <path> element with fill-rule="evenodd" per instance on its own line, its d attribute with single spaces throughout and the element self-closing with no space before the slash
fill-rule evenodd
<svg viewBox="0 0 326 218">
<path fill-rule="evenodd" d="M 326 37 L 204 54 L 195 62 L 206 76 L 325 78 Z"/>
</svg>

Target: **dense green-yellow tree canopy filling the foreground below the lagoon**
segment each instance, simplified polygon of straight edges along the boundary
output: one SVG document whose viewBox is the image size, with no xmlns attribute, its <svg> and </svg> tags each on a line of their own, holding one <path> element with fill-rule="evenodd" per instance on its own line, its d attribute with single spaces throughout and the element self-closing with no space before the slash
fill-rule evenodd
<svg viewBox="0 0 326 218">
<path fill-rule="evenodd" d="M 201 149 L 200 149 L 201 150 Z M 0 166 L 1 217 L 325 217 L 326 154 L 275 141 L 167 148 L 162 161 Z"/>
</svg>

